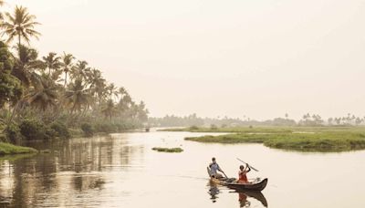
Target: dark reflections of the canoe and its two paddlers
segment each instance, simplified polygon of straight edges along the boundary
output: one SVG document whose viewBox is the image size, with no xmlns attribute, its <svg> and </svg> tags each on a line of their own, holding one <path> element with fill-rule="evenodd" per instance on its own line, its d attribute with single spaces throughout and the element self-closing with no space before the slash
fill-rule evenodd
<svg viewBox="0 0 365 208">
<path fill-rule="evenodd" d="M 214 182 L 209 182 L 209 194 L 211 196 L 211 200 L 213 203 L 216 202 L 218 198 L 218 194 L 220 193 L 219 188 Z M 254 198 L 258 202 L 262 203 L 264 207 L 267 207 L 267 201 L 262 192 L 253 192 L 253 191 L 232 191 L 230 193 L 238 193 L 238 202 L 240 207 L 251 207 L 251 199 Z"/>
</svg>

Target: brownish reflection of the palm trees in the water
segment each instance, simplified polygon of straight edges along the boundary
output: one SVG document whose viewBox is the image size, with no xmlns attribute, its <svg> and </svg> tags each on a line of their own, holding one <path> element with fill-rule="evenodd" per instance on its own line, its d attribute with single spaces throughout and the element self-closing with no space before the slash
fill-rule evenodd
<svg viewBox="0 0 365 208">
<path fill-rule="evenodd" d="M 4 195 L 11 201 L 6 207 L 55 207 L 70 202 L 70 196 L 97 198 L 105 183 L 104 174 L 99 172 L 120 168 L 126 171 L 135 164 L 135 157 L 143 154 L 142 146 L 130 146 L 128 140 L 111 137 L 58 140 L 33 146 L 51 153 L 9 161 L 8 165 L 0 163 L 0 200 Z M 9 182 L 11 186 L 5 185 Z"/>
</svg>

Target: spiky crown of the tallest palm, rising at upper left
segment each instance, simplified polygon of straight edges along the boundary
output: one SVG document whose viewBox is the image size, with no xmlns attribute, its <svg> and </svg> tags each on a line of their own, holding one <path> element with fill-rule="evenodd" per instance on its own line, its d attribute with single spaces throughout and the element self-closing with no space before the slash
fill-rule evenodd
<svg viewBox="0 0 365 208">
<path fill-rule="evenodd" d="M 32 36 L 39 39 L 41 35 L 34 27 L 40 25 L 36 21 L 36 16 L 30 15 L 23 6 L 17 6 L 12 16 L 10 13 L 5 13 L 5 20 L 0 24 L 3 28 L 3 36 L 7 35 L 6 43 L 10 43 L 17 37 L 18 44 L 21 44 L 21 39 L 26 40 L 29 44 Z"/>
</svg>

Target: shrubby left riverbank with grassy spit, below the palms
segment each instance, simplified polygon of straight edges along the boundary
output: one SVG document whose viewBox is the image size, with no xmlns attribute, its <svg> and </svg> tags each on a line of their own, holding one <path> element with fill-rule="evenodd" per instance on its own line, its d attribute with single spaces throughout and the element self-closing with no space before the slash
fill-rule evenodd
<svg viewBox="0 0 365 208">
<path fill-rule="evenodd" d="M 110 133 L 138 130 L 139 128 L 141 127 L 137 124 L 125 125 L 125 123 L 109 121 L 103 123 L 83 123 L 80 127 L 68 128 L 65 123 L 61 122 L 46 125 L 39 123 L 37 120 L 26 120 L 21 127 L 13 125 L 8 130 L 0 126 L 0 157 L 5 155 L 12 157 L 15 154 L 44 151 L 18 146 L 24 145 L 28 141 L 68 140 L 78 137 L 102 136 Z"/>
</svg>

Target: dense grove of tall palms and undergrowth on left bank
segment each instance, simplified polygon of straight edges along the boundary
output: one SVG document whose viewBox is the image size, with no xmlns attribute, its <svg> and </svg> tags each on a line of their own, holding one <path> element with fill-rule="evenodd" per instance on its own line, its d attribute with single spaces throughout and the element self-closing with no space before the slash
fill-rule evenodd
<svg viewBox="0 0 365 208">
<path fill-rule="evenodd" d="M 67 52 L 40 57 L 30 45 L 41 37 L 38 25 L 23 6 L 0 16 L 1 140 L 92 135 L 135 129 L 147 121 L 145 104 L 135 103 L 87 61 Z"/>
</svg>

